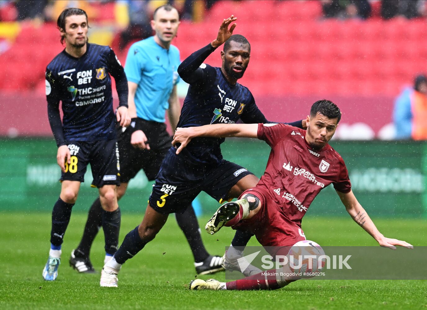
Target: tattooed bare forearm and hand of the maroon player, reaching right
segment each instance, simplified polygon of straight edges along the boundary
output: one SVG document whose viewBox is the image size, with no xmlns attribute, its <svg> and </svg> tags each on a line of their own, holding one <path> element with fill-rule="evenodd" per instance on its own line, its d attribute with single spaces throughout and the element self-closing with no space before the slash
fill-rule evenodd
<svg viewBox="0 0 427 310">
<path fill-rule="evenodd" d="M 348 214 L 350 214 L 351 218 L 363 229 L 365 229 L 369 235 L 371 235 L 375 240 L 377 240 L 380 246 L 388 247 L 393 250 L 396 249 L 396 246 L 404 246 L 408 249 L 414 248 L 406 241 L 384 237 L 384 235 L 378 231 L 377 227 L 375 226 L 374 222 L 372 222 L 368 213 L 366 213 L 365 209 L 363 209 L 363 207 L 357 201 L 356 197 L 353 194 L 353 191 L 349 191 L 346 194 L 341 193 L 339 191 L 336 191 L 336 193 L 338 194 L 339 198 L 342 201 L 342 204 L 345 206 L 345 209 L 347 210 Z"/>
</svg>

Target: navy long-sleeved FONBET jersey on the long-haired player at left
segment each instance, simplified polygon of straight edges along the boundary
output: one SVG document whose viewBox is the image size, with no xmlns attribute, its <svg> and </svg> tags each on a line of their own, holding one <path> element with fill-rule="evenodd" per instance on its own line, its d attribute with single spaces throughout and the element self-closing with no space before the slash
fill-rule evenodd
<svg viewBox="0 0 427 310">
<path fill-rule="evenodd" d="M 120 105 L 127 106 L 127 80 L 123 67 L 109 46 L 87 44 L 75 58 L 65 50 L 46 69 L 48 114 L 56 142 L 115 139 L 115 116 L 110 73 L 116 80 Z M 62 101 L 62 132 L 55 128 Z M 62 133 L 62 135 L 61 135 Z"/>
</svg>

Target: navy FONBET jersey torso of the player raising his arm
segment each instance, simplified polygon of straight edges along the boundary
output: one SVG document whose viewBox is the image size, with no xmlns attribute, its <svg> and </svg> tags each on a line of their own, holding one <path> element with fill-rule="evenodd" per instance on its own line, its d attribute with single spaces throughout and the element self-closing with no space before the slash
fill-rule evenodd
<svg viewBox="0 0 427 310">
<path fill-rule="evenodd" d="M 247 87 L 230 85 L 218 67 L 202 64 L 198 71 L 201 78 L 190 84 L 177 127 L 234 124 L 239 119 L 245 123 L 267 122 Z M 222 159 L 220 144 L 224 140 L 195 138 L 184 150 L 199 162 L 217 164 Z"/>
</svg>

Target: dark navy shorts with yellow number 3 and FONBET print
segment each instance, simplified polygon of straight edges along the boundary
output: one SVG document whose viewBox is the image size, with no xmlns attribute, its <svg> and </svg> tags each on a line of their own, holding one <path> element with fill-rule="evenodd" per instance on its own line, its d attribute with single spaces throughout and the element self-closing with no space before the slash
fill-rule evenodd
<svg viewBox="0 0 427 310">
<path fill-rule="evenodd" d="M 175 148 L 167 152 L 149 198 L 150 206 L 159 213 L 184 213 L 201 191 L 222 203 L 240 179 L 252 174 L 234 162 L 205 165 L 175 152 Z"/>
</svg>

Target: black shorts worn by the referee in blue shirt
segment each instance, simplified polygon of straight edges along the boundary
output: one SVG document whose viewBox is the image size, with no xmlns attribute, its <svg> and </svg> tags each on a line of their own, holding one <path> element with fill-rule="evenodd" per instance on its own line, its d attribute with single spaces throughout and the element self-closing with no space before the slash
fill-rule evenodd
<svg viewBox="0 0 427 310">
<path fill-rule="evenodd" d="M 122 183 L 129 183 L 129 180 L 134 178 L 141 169 L 148 180 L 155 180 L 161 162 L 172 146 L 172 137 L 167 133 L 164 123 L 140 120 L 140 126 L 148 139 L 150 150 L 141 150 L 131 145 L 134 130 L 131 126 L 118 129 L 120 182 Z"/>
</svg>

